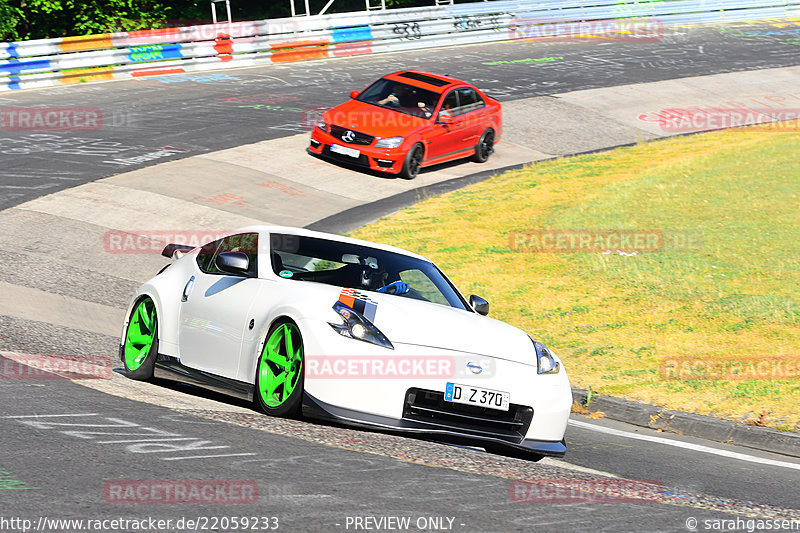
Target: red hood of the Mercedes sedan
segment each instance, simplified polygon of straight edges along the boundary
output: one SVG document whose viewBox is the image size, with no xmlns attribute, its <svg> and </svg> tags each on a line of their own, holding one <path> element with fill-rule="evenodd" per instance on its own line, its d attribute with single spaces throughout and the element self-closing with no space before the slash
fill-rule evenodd
<svg viewBox="0 0 800 533">
<path fill-rule="evenodd" d="M 407 115 L 358 100 L 349 100 L 325 113 L 325 122 L 375 137 L 404 137 L 428 119 Z"/>
</svg>

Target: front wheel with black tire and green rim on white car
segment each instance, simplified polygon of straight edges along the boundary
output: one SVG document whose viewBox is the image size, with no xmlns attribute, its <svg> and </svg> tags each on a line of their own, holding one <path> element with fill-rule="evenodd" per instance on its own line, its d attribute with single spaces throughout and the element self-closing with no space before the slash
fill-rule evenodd
<svg viewBox="0 0 800 533">
<path fill-rule="evenodd" d="M 289 332 L 289 337 L 292 341 L 292 351 L 296 352 L 291 358 L 287 357 L 288 349 L 285 342 L 286 331 Z M 274 346 L 275 350 L 270 348 L 270 340 L 276 335 L 281 339 L 278 344 Z M 283 335 L 283 337 L 280 337 Z M 295 348 L 299 346 L 299 348 Z M 281 370 L 281 365 L 278 364 L 270 357 L 269 351 L 283 356 L 287 363 L 295 362 L 293 371 L 297 373 L 296 379 L 284 379 L 283 383 L 275 386 L 273 393 L 268 393 L 270 380 L 274 383 L 277 379 L 276 371 Z M 299 353 L 299 358 L 298 358 Z M 262 366 L 263 365 L 263 366 Z M 283 367 L 285 370 L 286 367 Z M 287 373 L 288 375 L 288 373 Z M 268 380 L 268 381 L 265 381 Z M 258 408 L 270 416 L 299 418 L 302 415 L 303 407 L 303 385 L 305 382 L 305 356 L 303 352 L 303 337 L 300 335 L 300 329 L 297 324 L 289 320 L 277 322 L 269 329 L 267 337 L 264 340 L 264 347 L 256 362 L 256 387 L 255 387 L 255 402 Z M 291 386 L 291 391 L 288 397 L 283 397 L 287 388 L 287 383 Z M 264 387 L 262 388 L 262 385 Z M 278 397 L 276 398 L 276 394 Z"/>
</svg>

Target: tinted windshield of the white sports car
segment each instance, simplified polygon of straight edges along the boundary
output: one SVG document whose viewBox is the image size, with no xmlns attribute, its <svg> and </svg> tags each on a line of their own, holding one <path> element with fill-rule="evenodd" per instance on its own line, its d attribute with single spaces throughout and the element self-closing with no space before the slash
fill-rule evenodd
<svg viewBox="0 0 800 533">
<path fill-rule="evenodd" d="M 468 310 L 463 297 L 429 261 L 316 237 L 273 234 L 272 269 L 282 278 L 395 294 Z"/>
</svg>

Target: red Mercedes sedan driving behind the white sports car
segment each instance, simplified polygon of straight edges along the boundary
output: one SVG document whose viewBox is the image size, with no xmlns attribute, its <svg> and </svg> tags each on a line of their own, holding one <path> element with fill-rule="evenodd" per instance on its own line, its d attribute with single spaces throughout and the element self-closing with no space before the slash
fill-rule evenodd
<svg viewBox="0 0 800 533">
<path fill-rule="evenodd" d="M 449 76 L 395 72 L 350 97 L 317 122 L 309 152 L 413 179 L 454 159 L 486 161 L 502 132 L 500 102 Z"/>
</svg>

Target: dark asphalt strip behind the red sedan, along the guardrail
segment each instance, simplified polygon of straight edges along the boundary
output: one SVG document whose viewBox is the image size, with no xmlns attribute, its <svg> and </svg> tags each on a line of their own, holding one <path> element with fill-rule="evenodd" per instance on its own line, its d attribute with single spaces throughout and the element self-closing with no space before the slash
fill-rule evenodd
<svg viewBox="0 0 800 533">
<path fill-rule="evenodd" d="M 800 26 L 740 27 L 668 30 L 660 42 L 505 42 L 6 92 L 0 109 L 88 108 L 101 113 L 102 127 L 31 132 L 4 124 L 0 209 L 147 165 L 306 131 L 316 112 L 377 73 L 403 68 L 450 73 L 507 101 L 800 64 L 800 47 L 791 44 Z"/>
</svg>

